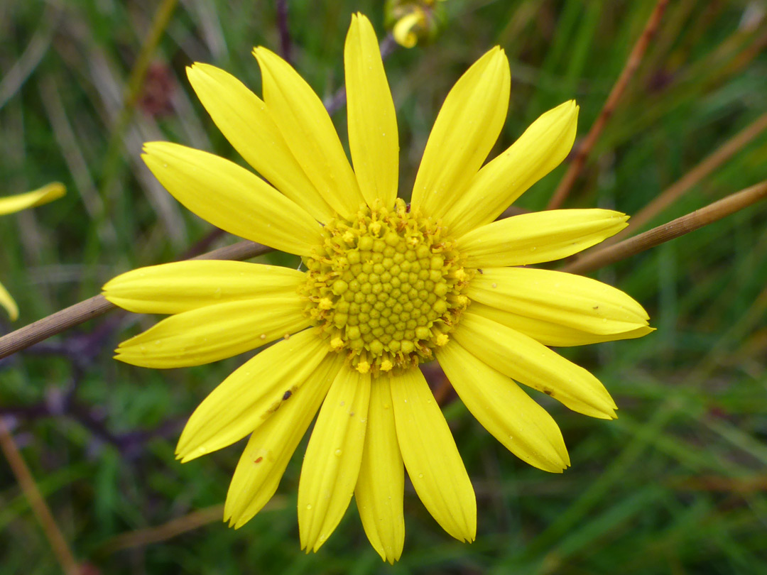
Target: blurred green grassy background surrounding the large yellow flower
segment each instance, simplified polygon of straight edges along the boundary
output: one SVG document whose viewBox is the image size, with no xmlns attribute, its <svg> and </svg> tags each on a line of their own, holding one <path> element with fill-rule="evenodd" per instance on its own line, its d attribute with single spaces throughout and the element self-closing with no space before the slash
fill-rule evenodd
<svg viewBox="0 0 767 575">
<path fill-rule="evenodd" d="M 140 146 L 171 140 L 242 163 L 184 67 L 219 65 L 259 93 L 250 52 L 258 44 L 279 51 L 275 2 L 179 2 L 131 93 L 159 4 L 0 2 L 0 195 L 51 180 L 68 189 L 0 223 L 0 274 L 21 307 L 21 319 L 3 317 L 0 332 L 90 297 L 122 271 L 235 241 L 210 236 L 209 224 L 164 192 Z M 364 11 L 383 38 L 383 4 L 288 2 L 292 59 L 321 97 L 343 83 L 351 12 Z M 584 136 L 653 5 L 447 0 L 436 40 L 400 48 L 385 64 L 400 126 L 400 193 L 412 186 L 449 87 L 495 44 L 509 55 L 512 97 L 493 154 L 573 97 Z M 761 1 L 670 2 L 566 207 L 636 213 L 753 126 L 767 112 L 765 10 Z M 343 109 L 334 121 L 345 140 Z M 542 209 L 564 172 L 519 205 Z M 767 135 L 757 130 L 651 223 L 765 173 Z M 174 460 L 186 417 L 252 353 L 185 370 L 125 366 L 111 350 L 155 318 L 111 314 L 0 361 L 0 413 L 84 573 L 767 573 L 765 222 L 762 202 L 592 274 L 644 304 L 658 330 L 563 350 L 621 408 L 604 422 L 541 399 L 571 452 L 564 474 L 518 461 L 449 398 L 444 410 L 476 488 L 478 537 L 452 540 L 407 485 L 405 550 L 393 567 L 367 544 L 354 504 L 318 554 L 301 552 L 295 501 L 305 441 L 278 495 L 239 531 L 220 522 L 219 507 L 239 446 Z M 61 573 L 5 462 L 0 532 L 3 575 Z"/>
</svg>

